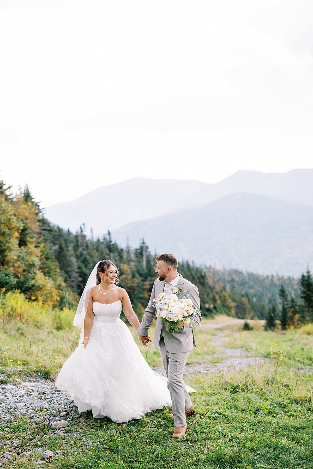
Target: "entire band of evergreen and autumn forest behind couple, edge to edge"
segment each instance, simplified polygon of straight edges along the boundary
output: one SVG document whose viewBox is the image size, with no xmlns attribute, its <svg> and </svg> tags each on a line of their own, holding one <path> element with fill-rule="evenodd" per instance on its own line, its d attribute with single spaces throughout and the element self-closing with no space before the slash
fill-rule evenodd
<svg viewBox="0 0 313 469">
<path fill-rule="evenodd" d="M 93 240 L 84 234 L 84 226 L 75 234 L 65 231 L 42 216 L 27 186 L 12 195 L 0 181 L 3 292 L 19 290 L 29 301 L 75 309 L 92 268 L 105 258 L 114 260 L 120 269 L 119 285 L 128 291 L 141 318 L 156 279 L 155 255 L 144 240 L 135 249 L 122 249 L 112 241 L 110 232 L 102 240 Z M 180 263 L 178 271 L 198 286 L 204 317 L 227 314 L 265 319 L 270 315 L 285 318 L 283 327 L 313 320 L 313 281 L 309 271 L 301 279 L 293 279 L 201 268 L 189 262 Z"/>
</svg>

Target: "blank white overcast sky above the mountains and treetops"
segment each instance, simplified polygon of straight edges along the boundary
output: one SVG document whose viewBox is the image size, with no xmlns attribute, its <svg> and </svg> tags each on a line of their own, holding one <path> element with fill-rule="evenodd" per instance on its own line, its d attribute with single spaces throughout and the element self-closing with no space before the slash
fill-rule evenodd
<svg viewBox="0 0 313 469">
<path fill-rule="evenodd" d="M 301 0 L 0 0 L 1 178 L 49 205 L 313 167 L 312 23 Z"/>
</svg>

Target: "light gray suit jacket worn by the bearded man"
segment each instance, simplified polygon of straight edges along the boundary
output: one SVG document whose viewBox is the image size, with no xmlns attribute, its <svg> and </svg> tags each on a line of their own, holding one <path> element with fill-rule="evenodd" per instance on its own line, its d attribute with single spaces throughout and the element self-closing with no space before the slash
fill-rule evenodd
<svg viewBox="0 0 313 469">
<path fill-rule="evenodd" d="M 189 280 L 183 278 L 181 274 L 179 274 L 180 280 L 178 281 L 176 287 L 181 288 L 182 291 L 178 295 L 181 298 L 186 292 L 189 293 L 190 298 L 192 300 L 193 305 L 197 308 L 197 317 L 194 318 L 191 316 L 191 321 L 194 323 L 198 323 L 201 321 L 201 311 L 200 311 L 200 297 L 198 292 L 198 287 L 193 285 Z M 142 318 L 141 324 L 137 330 L 138 335 L 142 335 L 146 337 L 148 335 L 148 329 L 151 326 L 153 319 L 156 317 L 156 310 L 152 307 L 153 299 L 157 298 L 160 293 L 164 291 L 165 287 L 165 280 L 162 282 L 159 279 L 156 279 L 153 284 L 153 289 L 151 293 L 150 302 L 148 303 L 147 308 L 145 309 L 144 317 Z M 154 341 L 153 345 L 154 348 L 159 347 L 160 342 L 160 334 L 163 327 L 163 338 L 165 347 L 168 352 L 171 353 L 181 353 L 181 352 L 191 352 L 193 346 L 196 347 L 195 338 L 193 332 L 189 325 L 183 326 L 183 331 L 179 333 L 172 333 L 171 340 L 168 340 L 168 335 L 165 329 L 165 326 L 162 326 L 160 318 L 157 318 L 156 325 L 155 325 L 155 333 L 154 333 Z"/>
</svg>

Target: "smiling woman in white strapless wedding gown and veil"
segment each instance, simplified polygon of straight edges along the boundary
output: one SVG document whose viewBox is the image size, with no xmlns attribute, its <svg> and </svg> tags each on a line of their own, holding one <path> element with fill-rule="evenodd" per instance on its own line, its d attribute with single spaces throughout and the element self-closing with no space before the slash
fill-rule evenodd
<svg viewBox="0 0 313 469">
<path fill-rule="evenodd" d="M 103 260 L 93 269 L 79 301 L 73 325 L 82 329 L 79 345 L 66 360 L 55 386 L 69 393 L 79 412 L 114 422 L 140 418 L 171 405 L 167 379 L 151 370 L 121 311 L 137 331 L 139 321 L 127 292 L 115 285 L 118 270 Z M 146 343 L 150 340 L 148 336 Z"/>
</svg>

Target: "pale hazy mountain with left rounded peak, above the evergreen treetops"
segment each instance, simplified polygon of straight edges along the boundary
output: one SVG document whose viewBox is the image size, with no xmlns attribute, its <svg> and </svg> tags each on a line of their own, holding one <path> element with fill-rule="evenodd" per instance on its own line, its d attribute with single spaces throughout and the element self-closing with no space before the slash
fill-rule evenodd
<svg viewBox="0 0 313 469">
<path fill-rule="evenodd" d="M 95 236 L 102 236 L 136 220 L 154 218 L 171 212 L 173 204 L 185 194 L 193 194 L 206 186 L 199 181 L 155 180 L 133 178 L 128 181 L 99 187 L 73 202 L 46 208 L 45 216 L 62 228 L 76 231 L 83 223 L 87 234 L 92 227 Z"/>
</svg>

